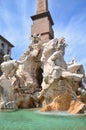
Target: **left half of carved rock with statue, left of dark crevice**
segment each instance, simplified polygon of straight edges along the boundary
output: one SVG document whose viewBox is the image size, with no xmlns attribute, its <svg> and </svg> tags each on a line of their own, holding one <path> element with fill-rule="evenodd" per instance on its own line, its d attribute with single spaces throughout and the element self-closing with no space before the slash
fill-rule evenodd
<svg viewBox="0 0 86 130">
<path fill-rule="evenodd" d="M 20 61 L 10 60 L 9 56 L 5 56 L 5 61 L 1 64 L 3 75 L 0 79 L 0 86 L 4 91 L 4 93 L 1 91 L 1 103 L 5 101 L 6 95 L 5 102 L 14 101 L 18 108 L 36 107 L 42 80 L 40 57 L 41 41 L 32 43 Z"/>
</svg>

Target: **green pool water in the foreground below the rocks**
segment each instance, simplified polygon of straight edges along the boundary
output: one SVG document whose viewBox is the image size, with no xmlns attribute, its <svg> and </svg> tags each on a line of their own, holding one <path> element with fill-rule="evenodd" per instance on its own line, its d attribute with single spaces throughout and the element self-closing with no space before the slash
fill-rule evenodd
<svg viewBox="0 0 86 130">
<path fill-rule="evenodd" d="M 0 112 L 0 130 L 86 130 L 86 116 L 40 113 L 36 110 Z"/>
</svg>

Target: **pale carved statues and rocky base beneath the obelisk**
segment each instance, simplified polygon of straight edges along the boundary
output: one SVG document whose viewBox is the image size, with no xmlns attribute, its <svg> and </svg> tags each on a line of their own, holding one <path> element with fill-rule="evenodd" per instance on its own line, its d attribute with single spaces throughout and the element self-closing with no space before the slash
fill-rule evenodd
<svg viewBox="0 0 86 130">
<path fill-rule="evenodd" d="M 64 60 L 65 39 L 43 43 L 38 36 L 19 61 L 4 56 L 0 77 L 0 108 L 85 112 L 86 79 L 83 65 Z"/>
</svg>

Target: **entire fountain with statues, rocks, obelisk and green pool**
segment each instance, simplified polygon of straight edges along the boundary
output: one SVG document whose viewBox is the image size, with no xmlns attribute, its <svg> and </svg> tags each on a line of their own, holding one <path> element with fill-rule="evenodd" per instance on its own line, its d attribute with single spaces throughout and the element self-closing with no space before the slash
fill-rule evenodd
<svg viewBox="0 0 86 130">
<path fill-rule="evenodd" d="M 44 8 L 45 4 L 46 0 Z M 32 16 L 33 20 L 41 16 L 39 12 L 40 8 Z M 53 25 L 48 11 L 42 14 L 43 18 L 46 15 L 50 20 L 46 24 Z M 19 60 L 4 56 L 0 77 L 0 130 L 86 129 L 85 71 L 75 58 L 71 63 L 65 62 L 65 38 L 54 39 L 51 24 L 50 40 L 33 34 L 32 43 Z"/>
</svg>

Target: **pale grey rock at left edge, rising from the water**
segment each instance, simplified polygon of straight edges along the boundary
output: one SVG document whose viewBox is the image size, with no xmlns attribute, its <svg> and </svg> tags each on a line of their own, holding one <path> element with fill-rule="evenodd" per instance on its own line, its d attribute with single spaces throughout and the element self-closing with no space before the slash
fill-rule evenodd
<svg viewBox="0 0 86 130">
<path fill-rule="evenodd" d="M 4 75 L 0 78 L 1 109 L 16 109 L 14 93 L 11 87 L 12 81 Z"/>
</svg>

